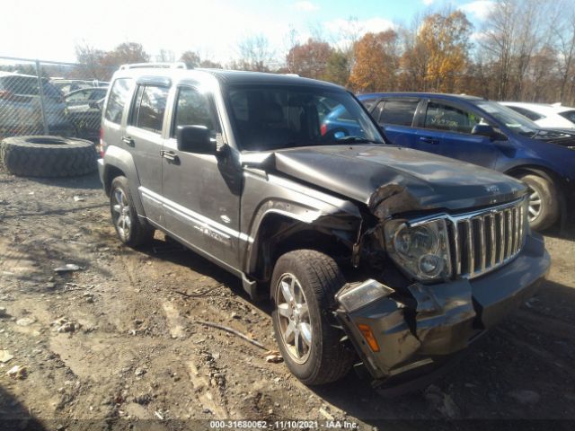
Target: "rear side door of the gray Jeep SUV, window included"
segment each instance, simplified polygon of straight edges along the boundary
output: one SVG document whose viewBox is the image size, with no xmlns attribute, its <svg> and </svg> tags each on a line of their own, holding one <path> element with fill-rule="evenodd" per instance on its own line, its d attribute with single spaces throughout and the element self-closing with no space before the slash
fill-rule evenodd
<svg viewBox="0 0 575 431">
<path fill-rule="evenodd" d="M 134 157 L 139 192 L 146 216 L 164 225 L 164 208 L 156 196 L 162 194 L 162 130 L 170 85 L 165 82 L 138 82 L 128 114 L 121 145 Z"/>
</svg>

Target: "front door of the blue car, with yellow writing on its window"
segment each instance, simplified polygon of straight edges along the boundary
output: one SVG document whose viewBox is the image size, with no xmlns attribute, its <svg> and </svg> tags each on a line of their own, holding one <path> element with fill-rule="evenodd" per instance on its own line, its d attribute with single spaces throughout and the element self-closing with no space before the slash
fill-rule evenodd
<svg viewBox="0 0 575 431">
<path fill-rule="evenodd" d="M 490 137 L 472 135 L 473 126 L 487 124 L 481 114 L 462 104 L 429 99 L 423 106 L 423 128 L 434 142 L 420 149 L 492 168 L 499 150 Z"/>
</svg>

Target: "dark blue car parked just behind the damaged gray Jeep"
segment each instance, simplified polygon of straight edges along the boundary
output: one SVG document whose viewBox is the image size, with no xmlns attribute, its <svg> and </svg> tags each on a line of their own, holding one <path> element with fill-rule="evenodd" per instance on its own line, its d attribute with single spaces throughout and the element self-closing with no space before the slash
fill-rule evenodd
<svg viewBox="0 0 575 431">
<path fill-rule="evenodd" d="M 496 101 L 472 96 L 395 92 L 358 98 L 395 145 L 479 164 L 526 182 L 535 230 L 570 214 L 575 201 L 572 133 L 543 130 Z"/>
</svg>

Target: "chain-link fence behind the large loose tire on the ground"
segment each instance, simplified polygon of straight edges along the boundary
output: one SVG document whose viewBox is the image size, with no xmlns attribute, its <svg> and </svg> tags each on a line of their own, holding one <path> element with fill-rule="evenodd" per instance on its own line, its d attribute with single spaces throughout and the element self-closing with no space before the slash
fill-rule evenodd
<svg viewBox="0 0 575 431">
<path fill-rule="evenodd" d="M 97 141 L 114 69 L 0 57 L 0 139 L 57 135 Z"/>
</svg>

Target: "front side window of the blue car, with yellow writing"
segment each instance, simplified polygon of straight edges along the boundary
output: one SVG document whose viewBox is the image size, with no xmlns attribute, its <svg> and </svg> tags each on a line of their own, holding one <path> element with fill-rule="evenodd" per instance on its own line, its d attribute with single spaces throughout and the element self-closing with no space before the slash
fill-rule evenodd
<svg viewBox="0 0 575 431">
<path fill-rule="evenodd" d="M 429 102 L 425 115 L 425 128 L 471 134 L 473 127 L 484 124 L 481 117 L 453 106 Z"/>
</svg>

